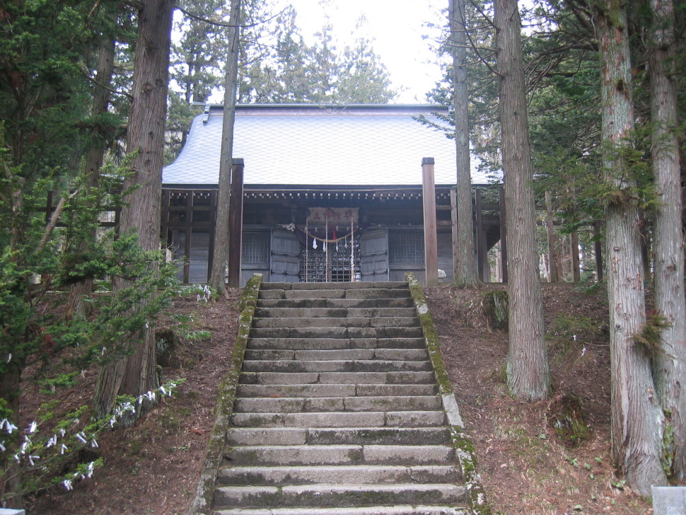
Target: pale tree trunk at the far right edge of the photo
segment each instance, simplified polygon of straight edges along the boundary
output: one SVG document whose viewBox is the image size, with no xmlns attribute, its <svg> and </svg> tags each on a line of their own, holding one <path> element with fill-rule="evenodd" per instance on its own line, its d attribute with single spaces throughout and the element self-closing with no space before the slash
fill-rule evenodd
<svg viewBox="0 0 686 515">
<path fill-rule="evenodd" d="M 670 69 L 675 55 L 672 0 L 651 0 L 650 41 L 652 156 L 658 204 L 655 214 L 655 308 L 670 324 L 661 332 L 656 354 L 656 391 L 674 435 L 672 471 L 686 476 L 686 300 L 684 298 L 684 238 L 681 230 L 681 184 L 677 88 Z"/>
</svg>

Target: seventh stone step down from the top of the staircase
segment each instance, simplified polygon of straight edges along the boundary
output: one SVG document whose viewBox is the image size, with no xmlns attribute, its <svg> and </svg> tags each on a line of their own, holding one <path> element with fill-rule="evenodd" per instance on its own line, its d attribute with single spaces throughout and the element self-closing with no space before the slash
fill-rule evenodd
<svg viewBox="0 0 686 515">
<path fill-rule="evenodd" d="M 251 338 L 248 349 L 426 349 L 424 338 Z"/>
</svg>

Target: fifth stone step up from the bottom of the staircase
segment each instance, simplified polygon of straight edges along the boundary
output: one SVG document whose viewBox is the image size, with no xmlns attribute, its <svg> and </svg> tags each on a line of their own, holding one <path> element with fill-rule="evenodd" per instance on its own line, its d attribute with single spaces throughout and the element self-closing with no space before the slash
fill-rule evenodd
<svg viewBox="0 0 686 515">
<path fill-rule="evenodd" d="M 229 445 L 334 445 L 450 443 L 447 427 L 233 427 Z M 323 481 L 323 480 L 322 480 Z"/>
</svg>

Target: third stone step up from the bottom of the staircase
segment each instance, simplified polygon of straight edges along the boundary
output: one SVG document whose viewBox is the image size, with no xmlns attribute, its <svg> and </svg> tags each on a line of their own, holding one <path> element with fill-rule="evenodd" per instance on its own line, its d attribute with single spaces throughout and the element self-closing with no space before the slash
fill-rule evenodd
<svg viewBox="0 0 686 515">
<path fill-rule="evenodd" d="M 320 482 L 383 485 L 393 482 L 458 482 L 462 473 L 457 465 L 311 465 L 301 467 L 223 468 L 222 485 L 308 485 Z"/>
</svg>

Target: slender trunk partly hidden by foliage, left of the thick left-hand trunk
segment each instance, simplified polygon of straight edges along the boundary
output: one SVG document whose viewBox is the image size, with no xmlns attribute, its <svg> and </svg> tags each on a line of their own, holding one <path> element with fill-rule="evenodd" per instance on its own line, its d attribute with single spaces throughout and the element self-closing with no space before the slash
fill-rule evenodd
<svg viewBox="0 0 686 515">
<path fill-rule="evenodd" d="M 95 120 L 98 116 L 104 115 L 107 112 L 107 107 L 110 105 L 110 91 L 107 89 L 112 81 L 112 71 L 115 64 L 115 40 L 105 41 L 100 45 L 98 54 L 98 68 L 95 80 L 98 83 L 93 86 L 93 110 L 91 117 Z M 86 156 L 86 174 L 88 175 L 88 183 L 86 187 L 91 190 L 98 187 L 100 182 L 100 168 L 103 166 L 105 158 L 105 149 L 107 148 L 108 137 L 105 130 L 101 127 L 95 128 L 95 138 L 91 141 L 91 146 L 88 149 Z M 97 237 L 95 232 L 92 233 L 93 240 Z M 81 244 L 81 248 L 85 250 L 86 242 Z M 91 304 L 84 302 L 83 299 L 91 294 L 93 290 L 93 279 L 85 279 L 77 282 L 71 286 L 69 291 L 69 299 L 66 304 L 65 318 L 68 320 L 74 315 L 88 316 L 91 310 Z"/>
</svg>

